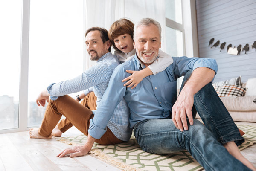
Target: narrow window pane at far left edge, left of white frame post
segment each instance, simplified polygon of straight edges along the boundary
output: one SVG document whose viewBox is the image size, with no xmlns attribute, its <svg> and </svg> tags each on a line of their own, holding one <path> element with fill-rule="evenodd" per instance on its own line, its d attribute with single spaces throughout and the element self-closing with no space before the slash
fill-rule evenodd
<svg viewBox="0 0 256 171">
<path fill-rule="evenodd" d="M 18 128 L 21 11 L 20 0 L 0 1 L 0 130 Z"/>
</svg>

